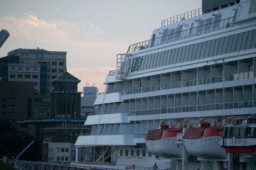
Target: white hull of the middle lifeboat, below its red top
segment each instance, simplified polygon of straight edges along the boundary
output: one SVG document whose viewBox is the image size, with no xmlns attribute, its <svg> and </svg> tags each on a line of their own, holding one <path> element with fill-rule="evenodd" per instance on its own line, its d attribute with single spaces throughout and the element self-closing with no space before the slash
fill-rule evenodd
<svg viewBox="0 0 256 170">
<path fill-rule="evenodd" d="M 220 147 L 220 136 L 202 137 L 199 139 L 183 139 L 188 154 L 196 157 L 227 159 L 228 154 Z"/>
</svg>

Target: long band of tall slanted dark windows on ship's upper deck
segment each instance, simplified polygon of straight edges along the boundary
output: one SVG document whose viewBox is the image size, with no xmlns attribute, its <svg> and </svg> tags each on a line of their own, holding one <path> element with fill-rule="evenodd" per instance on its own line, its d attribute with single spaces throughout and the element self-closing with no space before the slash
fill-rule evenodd
<svg viewBox="0 0 256 170">
<path fill-rule="evenodd" d="M 256 30 L 142 56 L 140 70 L 163 67 L 256 47 Z M 132 67 L 137 58 L 132 59 Z M 131 69 L 132 70 L 132 69 Z"/>
</svg>

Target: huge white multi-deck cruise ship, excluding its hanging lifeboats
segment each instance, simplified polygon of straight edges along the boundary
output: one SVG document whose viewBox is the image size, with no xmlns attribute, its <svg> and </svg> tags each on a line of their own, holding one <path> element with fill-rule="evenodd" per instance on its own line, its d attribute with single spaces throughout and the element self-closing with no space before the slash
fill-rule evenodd
<svg viewBox="0 0 256 170">
<path fill-rule="evenodd" d="M 129 45 L 116 62 L 105 92 L 95 100 L 95 115 L 85 121 L 92 132 L 78 137 L 77 149 L 103 147 L 97 160 L 111 158 L 129 169 L 155 162 L 169 169 L 245 167 L 239 159 L 227 163 L 237 160 L 230 154 L 223 159 L 189 154 L 186 160 L 157 159 L 145 137 L 163 120 L 193 128 L 201 118 L 223 126 L 230 117 L 255 115 L 255 0 L 202 0 L 202 8 L 161 21 L 149 40 Z"/>
</svg>

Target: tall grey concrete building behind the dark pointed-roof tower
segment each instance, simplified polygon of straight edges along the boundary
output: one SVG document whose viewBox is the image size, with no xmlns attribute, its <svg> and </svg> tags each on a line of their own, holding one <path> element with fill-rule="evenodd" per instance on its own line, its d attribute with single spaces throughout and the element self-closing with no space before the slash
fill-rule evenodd
<svg viewBox="0 0 256 170">
<path fill-rule="evenodd" d="M 3 57 L 4 75 L 0 76 L 9 81 L 33 81 L 40 94 L 50 94 L 54 89 L 51 80 L 60 77 L 67 69 L 66 55 L 67 52 L 39 48 L 12 50 Z"/>
</svg>

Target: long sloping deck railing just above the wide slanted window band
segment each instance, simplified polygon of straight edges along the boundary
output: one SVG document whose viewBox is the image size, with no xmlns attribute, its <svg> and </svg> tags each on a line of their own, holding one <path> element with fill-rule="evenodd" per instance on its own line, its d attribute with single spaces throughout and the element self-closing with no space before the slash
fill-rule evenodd
<svg viewBox="0 0 256 170">
<path fill-rule="evenodd" d="M 137 42 L 135 44 L 129 45 L 129 48 L 127 50 L 127 54 L 131 52 L 136 52 L 139 50 L 144 50 L 149 47 L 155 47 L 158 45 L 163 45 L 169 42 L 174 42 L 177 40 L 183 40 L 186 38 L 191 38 L 197 35 L 202 35 L 204 33 L 211 33 L 216 30 L 222 30 L 225 28 L 230 28 L 233 25 L 234 17 L 225 18 L 220 21 L 215 21 L 212 23 L 207 23 L 203 26 L 197 26 L 195 28 L 188 28 L 186 30 L 182 30 L 181 32 L 171 33 L 169 35 L 163 35 L 159 38 L 151 39 L 151 40 L 145 40 L 142 42 Z M 185 24 L 186 25 L 186 24 Z M 207 26 L 207 27 L 205 27 Z M 210 26 L 210 27 L 209 27 Z M 208 29 L 209 28 L 209 29 Z"/>
</svg>

